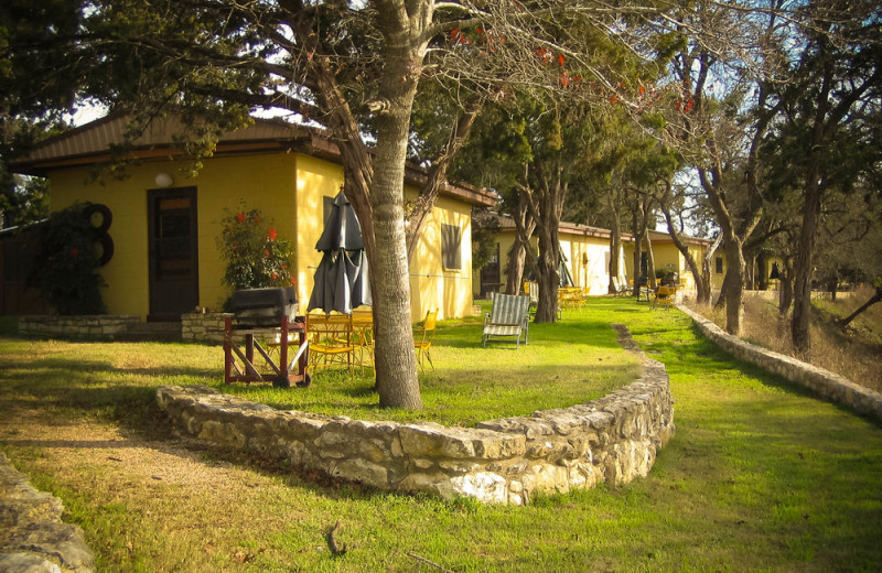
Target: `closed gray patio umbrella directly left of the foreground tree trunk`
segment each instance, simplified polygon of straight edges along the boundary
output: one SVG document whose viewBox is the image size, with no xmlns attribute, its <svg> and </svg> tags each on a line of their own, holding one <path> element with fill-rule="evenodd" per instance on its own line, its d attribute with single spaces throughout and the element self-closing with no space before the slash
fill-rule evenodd
<svg viewBox="0 0 882 573">
<path fill-rule="evenodd" d="M 362 226 L 343 192 L 334 198 L 333 210 L 315 244 L 322 262 L 315 269 L 306 312 L 321 309 L 348 314 L 356 306 L 369 305 L 370 283 Z"/>
</svg>

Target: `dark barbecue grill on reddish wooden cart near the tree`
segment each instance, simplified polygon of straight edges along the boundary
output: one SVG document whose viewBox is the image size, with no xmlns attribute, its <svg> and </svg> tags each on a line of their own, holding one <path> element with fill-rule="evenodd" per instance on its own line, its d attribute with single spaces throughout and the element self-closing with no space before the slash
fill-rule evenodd
<svg viewBox="0 0 882 573">
<path fill-rule="evenodd" d="M 232 306 L 235 327 L 234 316 L 227 316 L 224 322 L 224 381 L 271 381 L 272 386 L 282 388 L 289 388 L 292 382 L 309 386 L 309 344 L 303 318 L 294 316 L 298 310 L 297 291 L 291 288 L 240 290 L 233 293 Z M 245 335 L 244 350 L 234 342 L 234 332 Z M 293 339 L 289 340 L 289 334 Z M 278 342 L 270 342 L 265 349 L 255 335 Z M 289 363 L 290 343 L 293 343 L 295 353 Z M 278 364 L 268 352 L 276 348 L 279 350 Z M 255 350 L 263 359 L 262 364 L 255 364 Z M 258 370 L 258 366 L 263 372 Z"/>
</svg>

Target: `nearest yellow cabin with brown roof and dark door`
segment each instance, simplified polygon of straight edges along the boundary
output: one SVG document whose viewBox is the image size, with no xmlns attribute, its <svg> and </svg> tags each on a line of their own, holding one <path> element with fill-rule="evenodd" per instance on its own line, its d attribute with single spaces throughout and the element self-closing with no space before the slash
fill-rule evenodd
<svg viewBox="0 0 882 573">
<path fill-rule="evenodd" d="M 50 179 L 52 210 L 75 202 L 109 208 L 115 252 L 100 270 L 108 312 L 161 320 L 196 307 L 219 310 L 229 292 L 216 238 L 225 209 L 240 205 L 260 209 L 273 219 L 278 236 L 291 241 L 303 312 L 321 260 L 315 242 L 326 205 L 343 185 L 335 145 L 313 130 L 257 119 L 224 136 L 214 156 L 191 177 L 189 162 L 171 143 L 181 126 L 166 121 L 135 142 L 138 164 L 126 167 L 126 179 L 95 181 L 95 167 L 122 140 L 125 123 L 119 116 L 94 121 L 44 141 L 14 165 Z M 423 176 L 419 169 L 408 170 L 407 195 L 416 196 Z M 415 322 L 430 309 L 439 309 L 439 318 L 471 313 L 471 212 L 494 203 L 485 191 L 442 188 L 410 261 Z"/>
</svg>

